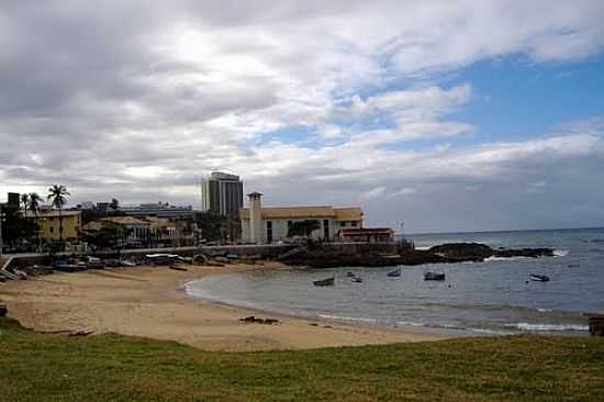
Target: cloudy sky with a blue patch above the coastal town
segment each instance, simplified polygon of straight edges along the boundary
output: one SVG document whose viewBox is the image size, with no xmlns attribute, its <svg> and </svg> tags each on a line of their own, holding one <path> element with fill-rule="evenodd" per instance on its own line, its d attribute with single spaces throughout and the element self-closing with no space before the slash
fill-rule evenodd
<svg viewBox="0 0 604 402">
<path fill-rule="evenodd" d="M 265 205 L 366 226 L 604 226 L 604 2 L 3 1 L 0 200 Z"/>
</svg>

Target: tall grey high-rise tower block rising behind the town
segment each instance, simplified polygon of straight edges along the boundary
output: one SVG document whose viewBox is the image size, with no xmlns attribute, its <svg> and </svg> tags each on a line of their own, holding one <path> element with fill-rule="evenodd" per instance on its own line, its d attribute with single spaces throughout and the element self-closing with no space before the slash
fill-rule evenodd
<svg viewBox="0 0 604 402">
<path fill-rule="evenodd" d="M 213 171 L 201 180 L 201 210 L 237 217 L 244 205 L 244 183 L 238 176 Z"/>
</svg>

